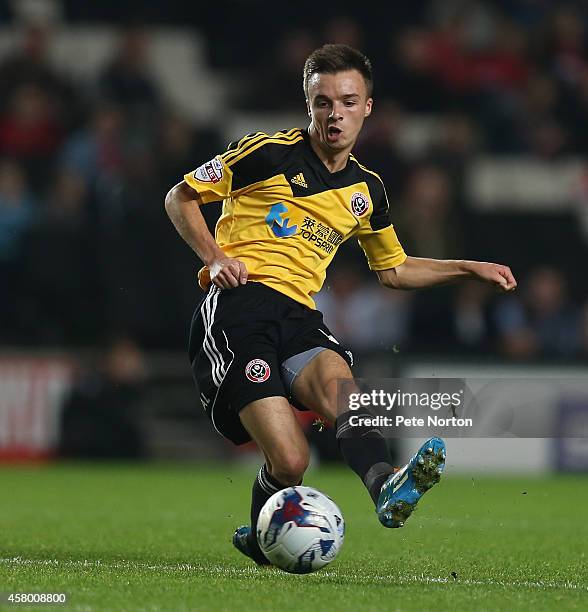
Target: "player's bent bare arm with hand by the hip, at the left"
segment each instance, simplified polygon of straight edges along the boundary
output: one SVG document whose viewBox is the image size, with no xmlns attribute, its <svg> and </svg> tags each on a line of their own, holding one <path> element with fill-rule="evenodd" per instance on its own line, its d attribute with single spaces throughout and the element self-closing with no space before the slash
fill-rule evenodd
<svg viewBox="0 0 588 612">
<path fill-rule="evenodd" d="M 165 210 L 180 236 L 210 271 L 217 287 L 231 289 L 247 282 L 247 268 L 242 261 L 227 257 L 208 231 L 200 212 L 202 198 L 186 181 L 172 187 L 165 196 Z"/>
</svg>

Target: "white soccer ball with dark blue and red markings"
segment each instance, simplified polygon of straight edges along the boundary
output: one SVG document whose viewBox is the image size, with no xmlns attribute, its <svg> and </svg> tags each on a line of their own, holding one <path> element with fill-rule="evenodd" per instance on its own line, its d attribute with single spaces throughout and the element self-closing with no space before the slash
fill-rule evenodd
<svg viewBox="0 0 588 612">
<path fill-rule="evenodd" d="M 274 493 L 261 509 L 257 541 L 280 569 L 309 574 L 330 563 L 343 545 L 341 510 L 311 487 L 289 487 Z"/>
</svg>

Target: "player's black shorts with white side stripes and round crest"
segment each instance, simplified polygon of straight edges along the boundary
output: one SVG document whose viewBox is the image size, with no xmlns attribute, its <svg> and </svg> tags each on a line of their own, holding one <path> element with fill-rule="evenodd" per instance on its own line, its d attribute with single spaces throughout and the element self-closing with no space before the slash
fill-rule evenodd
<svg viewBox="0 0 588 612">
<path fill-rule="evenodd" d="M 353 363 L 318 310 L 261 283 L 224 290 L 211 286 L 194 312 L 189 355 L 200 401 L 215 429 L 244 444 L 251 437 L 239 411 L 247 404 L 282 396 L 305 409 L 290 393 L 283 364 L 316 347 Z"/>
</svg>

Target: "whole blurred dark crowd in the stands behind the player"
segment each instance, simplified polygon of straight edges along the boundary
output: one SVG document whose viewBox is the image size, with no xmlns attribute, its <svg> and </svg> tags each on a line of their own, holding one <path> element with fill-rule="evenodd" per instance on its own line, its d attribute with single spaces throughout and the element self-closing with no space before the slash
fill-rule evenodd
<svg viewBox="0 0 588 612">
<path fill-rule="evenodd" d="M 236 84 L 229 112 L 300 111 L 308 53 L 327 41 L 364 49 L 376 103 L 356 154 L 383 177 L 407 252 L 498 260 L 520 283 L 508 297 L 477 283 L 385 291 L 353 245 L 317 305 L 359 351 L 586 359 L 587 249 L 575 220 L 476 213 L 465 182 L 480 154 L 551 161 L 588 151 L 588 11 L 547 0 L 416 4 L 403 19 L 383 7 L 320 27 L 294 21 L 246 62 L 219 49 L 218 32 L 200 31 L 210 65 Z M 224 149 L 222 118 L 194 125 L 170 107 L 150 69 L 148 28 L 123 29 L 90 86 L 48 61 L 51 35 L 23 27 L 0 57 L 0 342 L 83 347 L 125 334 L 182 350 L 198 262 L 163 198 Z M 412 153 L 399 142 L 409 116 L 439 126 Z M 204 212 L 212 226 L 218 206 Z"/>
</svg>

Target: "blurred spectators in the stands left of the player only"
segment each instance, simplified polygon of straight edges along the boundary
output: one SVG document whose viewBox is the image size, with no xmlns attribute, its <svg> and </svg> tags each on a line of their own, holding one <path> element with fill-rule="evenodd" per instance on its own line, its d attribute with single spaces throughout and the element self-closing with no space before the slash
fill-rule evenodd
<svg viewBox="0 0 588 612">
<path fill-rule="evenodd" d="M 90 89 L 47 63 L 49 35 L 25 29 L 0 61 L 0 341 L 84 346 L 124 331 L 181 347 L 197 262 L 163 198 L 221 149 L 217 133 L 164 104 L 144 30 L 122 34 Z"/>
</svg>

